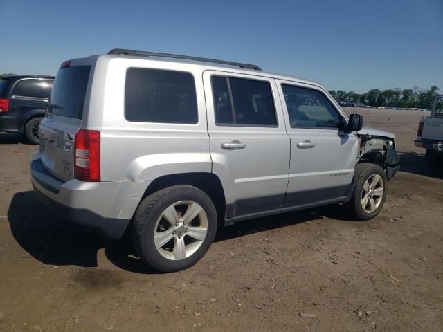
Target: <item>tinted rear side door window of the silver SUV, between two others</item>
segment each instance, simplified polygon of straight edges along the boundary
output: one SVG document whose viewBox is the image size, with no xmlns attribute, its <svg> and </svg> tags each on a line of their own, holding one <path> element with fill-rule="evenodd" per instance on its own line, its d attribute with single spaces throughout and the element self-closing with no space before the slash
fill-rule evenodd
<svg viewBox="0 0 443 332">
<path fill-rule="evenodd" d="M 271 84 L 237 77 L 211 77 L 215 123 L 229 126 L 276 126 Z"/>
</svg>

